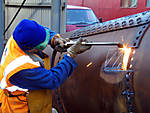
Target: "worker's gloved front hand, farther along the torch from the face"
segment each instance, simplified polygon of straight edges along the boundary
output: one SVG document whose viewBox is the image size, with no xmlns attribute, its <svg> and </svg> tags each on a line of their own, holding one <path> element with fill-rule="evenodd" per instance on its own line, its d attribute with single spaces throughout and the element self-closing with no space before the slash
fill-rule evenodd
<svg viewBox="0 0 150 113">
<path fill-rule="evenodd" d="M 77 40 L 77 42 L 74 45 L 72 45 L 67 49 L 67 53 L 70 55 L 71 58 L 74 58 L 78 54 L 83 53 L 84 51 L 91 48 L 91 46 L 81 45 L 82 41 L 86 41 L 86 40 L 80 38 Z"/>
</svg>

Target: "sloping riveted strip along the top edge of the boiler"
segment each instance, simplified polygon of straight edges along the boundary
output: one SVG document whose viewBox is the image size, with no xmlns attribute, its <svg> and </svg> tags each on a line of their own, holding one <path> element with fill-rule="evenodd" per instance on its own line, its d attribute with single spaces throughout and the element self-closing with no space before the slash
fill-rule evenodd
<svg viewBox="0 0 150 113">
<path fill-rule="evenodd" d="M 135 25 L 144 24 L 145 22 L 150 21 L 150 18 L 145 20 L 146 17 L 142 17 L 142 15 L 144 15 L 146 17 L 150 17 L 150 12 L 147 11 L 147 12 L 139 13 L 136 15 L 122 17 L 122 18 L 111 20 L 108 22 L 88 26 L 88 27 L 79 29 L 76 32 L 74 32 L 71 35 L 71 38 L 94 35 L 94 34 L 106 32 L 106 31 L 118 30 L 118 29 L 127 28 L 127 27 L 133 27 Z"/>
</svg>

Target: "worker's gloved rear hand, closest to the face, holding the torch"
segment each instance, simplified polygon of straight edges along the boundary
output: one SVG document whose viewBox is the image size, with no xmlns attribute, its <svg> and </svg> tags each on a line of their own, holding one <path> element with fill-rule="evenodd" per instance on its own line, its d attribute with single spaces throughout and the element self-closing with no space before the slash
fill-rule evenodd
<svg viewBox="0 0 150 113">
<path fill-rule="evenodd" d="M 56 34 L 52 38 L 51 46 L 55 48 L 56 45 L 59 45 L 59 47 L 64 48 L 64 44 L 67 42 L 67 40 L 68 39 L 62 38 L 59 34 Z"/>
</svg>

